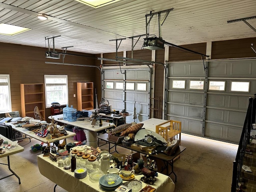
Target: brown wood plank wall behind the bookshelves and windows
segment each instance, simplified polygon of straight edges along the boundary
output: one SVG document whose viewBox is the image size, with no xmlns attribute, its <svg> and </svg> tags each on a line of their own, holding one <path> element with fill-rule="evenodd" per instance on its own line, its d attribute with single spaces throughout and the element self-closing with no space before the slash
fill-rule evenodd
<svg viewBox="0 0 256 192">
<path fill-rule="evenodd" d="M 0 43 L 0 74 L 10 75 L 12 111 L 18 110 L 20 115 L 20 83 L 44 83 L 44 74 L 68 75 L 69 105 L 72 104 L 74 108 L 77 108 L 77 98 L 73 97 L 73 94 L 76 94 L 76 82 L 95 82 L 96 87 L 100 83 L 95 78 L 95 68 L 45 64 L 45 61 L 62 62 L 62 58 L 45 58 L 45 51 L 45 48 Z M 77 52 L 69 53 L 81 55 Z M 82 55 L 94 57 L 92 54 Z M 64 63 L 86 65 L 94 65 L 95 61 L 92 58 L 71 55 L 66 55 L 64 59 Z M 48 116 L 50 116 L 50 108 L 46 109 L 46 120 Z"/>
</svg>

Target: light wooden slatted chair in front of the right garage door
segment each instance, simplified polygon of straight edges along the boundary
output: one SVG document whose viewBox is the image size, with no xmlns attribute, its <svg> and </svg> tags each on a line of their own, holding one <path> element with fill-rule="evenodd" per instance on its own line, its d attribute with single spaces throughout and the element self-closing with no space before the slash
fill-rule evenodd
<svg viewBox="0 0 256 192">
<path fill-rule="evenodd" d="M 168 125 L 166 126 L 166 124 Z M 160 134 L 166 141 L 178 138 L 179 143 L 181 143 L 181 122 L 169 120 L 156 125 L 156 133 Z"/>
</svg>

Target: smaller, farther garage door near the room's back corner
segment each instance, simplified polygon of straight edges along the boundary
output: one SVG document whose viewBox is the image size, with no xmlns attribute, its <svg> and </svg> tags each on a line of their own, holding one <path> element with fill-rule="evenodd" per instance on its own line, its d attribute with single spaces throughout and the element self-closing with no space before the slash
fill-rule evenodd
<svg viewBox="0 0 256 192">
<path fill-rule="evenodd" d="M 130 114 L 136 107 L 137 119 L 141 122 L 149 118 L 151 68 L 108 69 L 103 70 L 103 97 L 112 104 L 112 108 Z M 134 122 L 131 116 L 126 122 Z"/>
</svg>

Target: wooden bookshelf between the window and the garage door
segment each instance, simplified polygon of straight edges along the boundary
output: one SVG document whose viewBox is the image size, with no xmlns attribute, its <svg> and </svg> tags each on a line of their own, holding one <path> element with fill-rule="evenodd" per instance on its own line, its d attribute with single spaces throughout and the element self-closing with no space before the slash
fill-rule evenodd
<svg viewBox="0 0 256 192">
<path fill-rule="evenodd" d="M 77 82 L 77 109 L 79 111 L 94 108 L 93 82 Z"/>
</svg>

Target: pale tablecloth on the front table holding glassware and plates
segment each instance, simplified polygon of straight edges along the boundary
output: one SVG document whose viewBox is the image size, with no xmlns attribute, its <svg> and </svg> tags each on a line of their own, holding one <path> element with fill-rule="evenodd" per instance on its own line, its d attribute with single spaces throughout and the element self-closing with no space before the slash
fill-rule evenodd
<svg viewBox="0 0 256 192">
<path fill-rule="evenodd" d="M 42 154 L 37 156 L 38 168 L 40 173 L 58 186 L 70 192 L 104 192 L 100 188 L 99 182 L 90 180 L 89 175 L 86 178 L 78 179 L 74 177 L 74 172 L 64 170 L 58 167 L 58 163 L 50 160 L 49 157 L 43 157 Z M 142 175 L 136 175 L 135 178 L 140 180 Z M 125 182 L 125 181 L 124 181 Z M 142 182 L 142 187 L 147 184 Z M 151 185 L 158 192 L 174 192 L 175 184 L 169 176 L 158 173 L 156 182 Z"/>
</svg>

